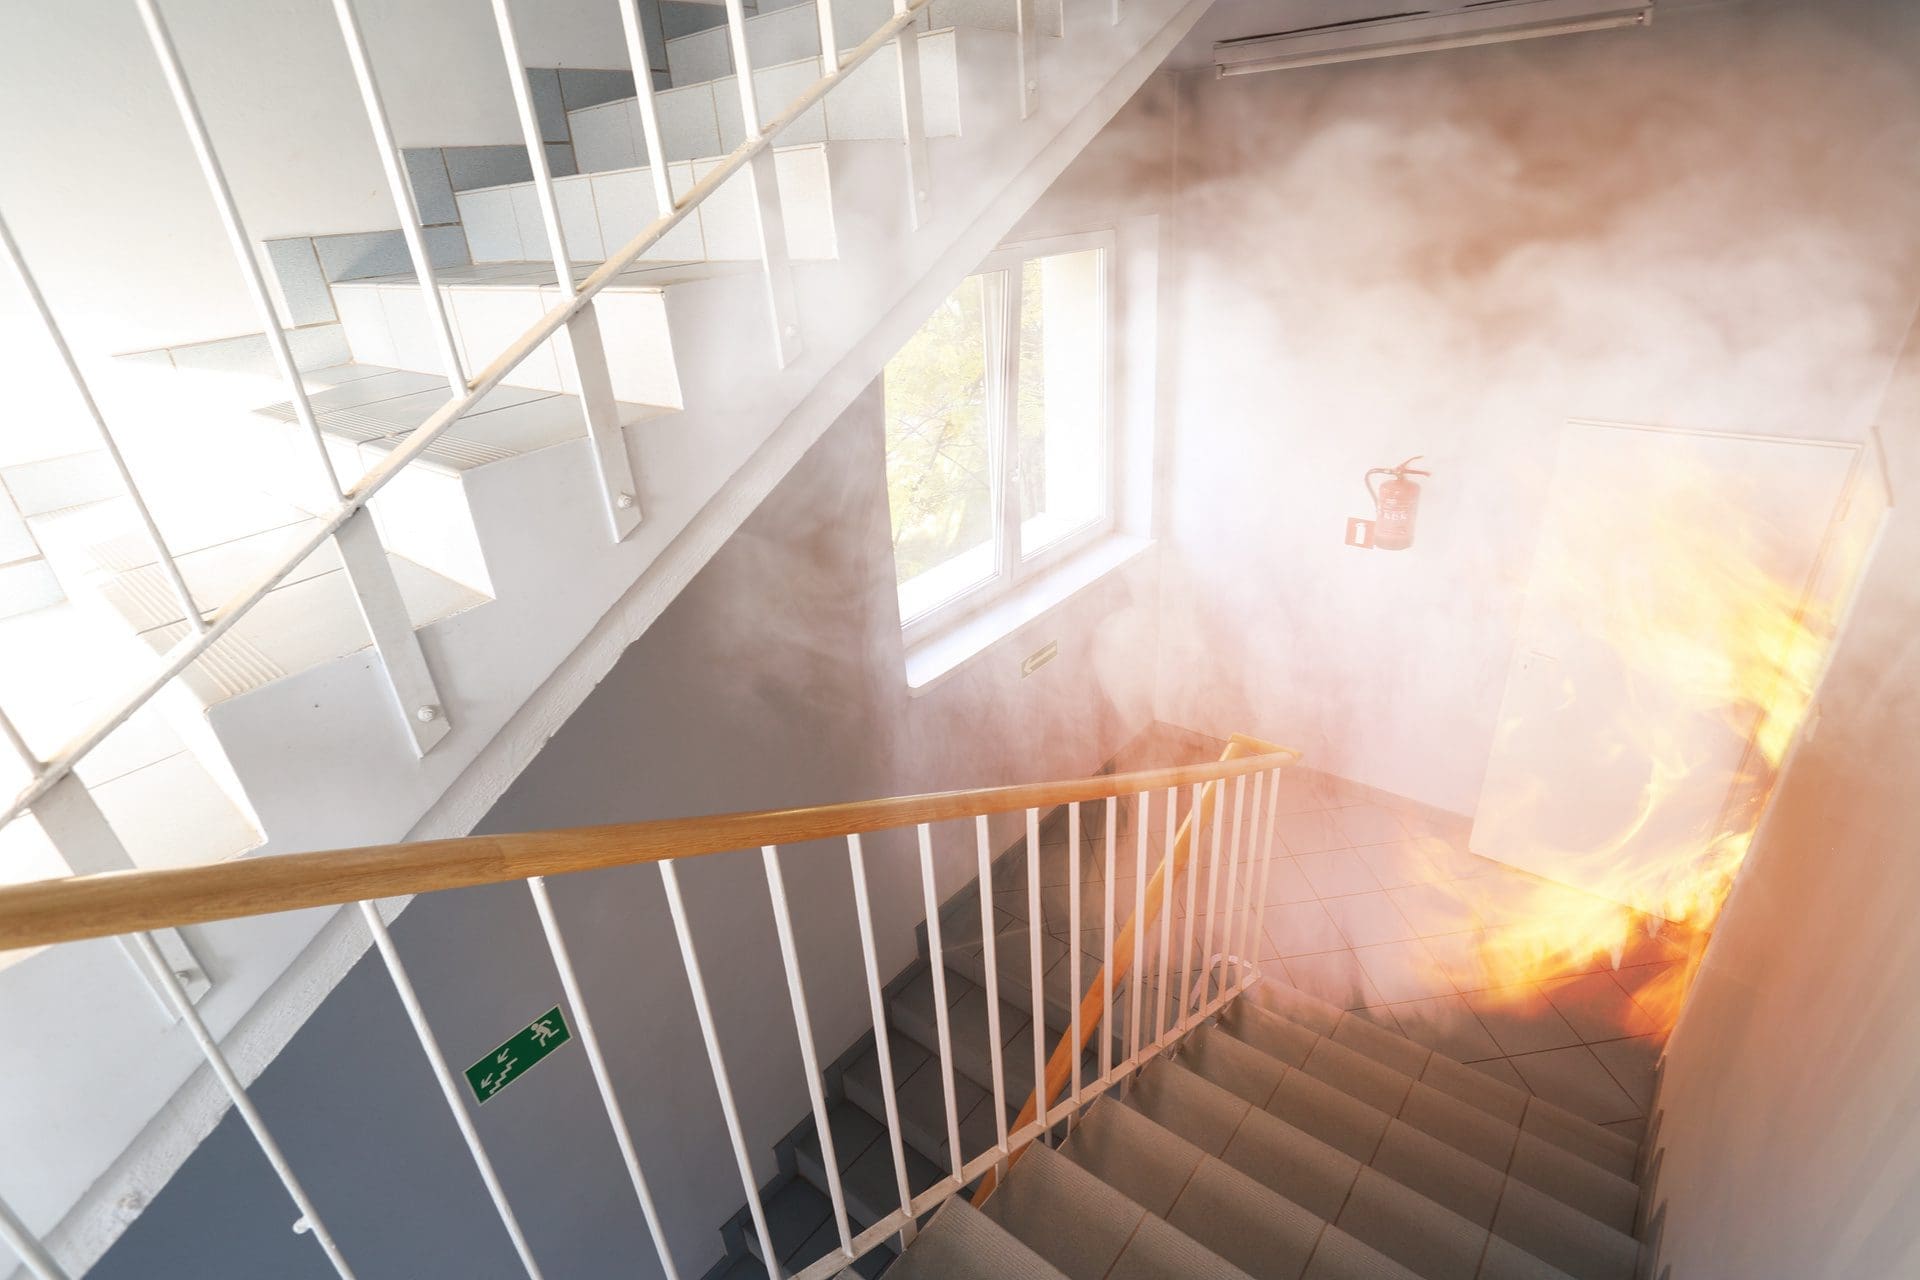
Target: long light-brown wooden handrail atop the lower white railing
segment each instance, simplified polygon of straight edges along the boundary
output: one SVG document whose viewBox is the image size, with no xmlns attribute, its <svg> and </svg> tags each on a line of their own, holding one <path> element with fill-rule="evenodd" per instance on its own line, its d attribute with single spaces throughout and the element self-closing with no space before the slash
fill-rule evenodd
<svg viewBox="0 0 1920 1280">
<path fill-rule="evenodd" d="M 1242 739 L 1235 739 L 1240 743 Z M 1252 743 L 1252 739 L 1244 739 Z M 1300 752 L 1260 743 L 1263 754 L 1062 783 L 981 787 L 814 808 L 670 818 L 520 835 L 468 835 L 411 844 L 369 844 L 278 858 L 246 858 L 161 871 L 108 871 L 0 889 L 0 952 L 204 925 L 369 898 L 470 889 L 693 858 L 762 844 L 795 844 L 924 821 L 1050 808 L 1162 787 L 1217 783 L 1290 764 Z M 1229 754 L 1233 754 L 1229 750 Z"/>
</svg>

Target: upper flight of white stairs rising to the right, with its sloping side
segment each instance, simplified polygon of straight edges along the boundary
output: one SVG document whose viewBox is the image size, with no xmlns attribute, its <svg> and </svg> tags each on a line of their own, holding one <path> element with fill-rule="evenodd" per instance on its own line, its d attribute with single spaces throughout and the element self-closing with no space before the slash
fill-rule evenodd
<svg viewBox="0 0 1920 1280">
<path fill-rule="evenodd" d="M 524 21 L 536 21 L 538 6 L 526 8 Z M 161 827 L 179 839 L 154 856 L 121 841 L 138 854 L 129 860 L 157 867 L 468 831 L 1204 8 L 1204 0 L 1041 4 L 1023 86 L 1020 0 L 925 6 L 914 27 L 929 134 L 922 192 L 908 182 L 899 63 L 887 46 L 781 132 L 772 152 L 799 317 L 789 359 L 776 349 L 749 171 L 714 188 L 595 299 L 614 447 L 624 443 L 636 476 L 620 509 L 637 526 L 609 537 L 614 495 L 597 480 L 603 455 L 589 439 L 561 332 L 369 503 L 397 599 L 388 616 L 401 635 L 419 637 L 436 697 L 396 693 L 384 651 L 369 647 L 342 557 L 321 541 L 140 704 L 142 733 L 152 735 L 140 741 L 142 760 L 173 762 L 180 783 L 154 794 L 115 773 L 104 783 L 117 791 L 102 791 L 96 804 L 115 827 Z M 835 10 L 843 52 L 895 13 L 891 0 Z M 762 121 L 772 121 L 829 71 L 818 13 L 812 4 L 787 6 L 745 27 Z M 724 29 L 670 40 L 666 61 L 672 84 L 657 94 L 659 157 L 639 138 L 636 98 L 566 115 L 580 173 L 559 177 L 555 198 L 576 280 L 660 213 L 651 165 L 666 165 L 680 200 L 747 138 Z M 543 259 L 545 228 L 530 215 L 534 192 L 536 182 L 449 192 L 468 248 L 442 261 L 457 238 L 430 236 L 438 292 L 468 374 L 561 299 L 557 269 Z M 31 265 L 31 244 L 23 255 Z M 351 486 L 417 441 L 447 401 L 447 376 L 411 269 L 323 288 L 338 328 L 292 330 L 294 349 L 326 457 Z M 288 282 L 282 292 L 290 294 Z M 111 428 L 142 489 L 154 480 L 142 497 L 192 610 L 169 593 L 127 493 L 88 482 L 50 495 L 31 516 L 35 533 L 75 612 L 111 652 L 111 662 L 88 670 L 88 714 L 146 681 L 156 654 L 188 643 L 192 614 L 213 616 L 324 535 L 332 501 L 317 497 L 313 443 L 290 388 L 257 367 L 188 368 L 161 355 L 131 365 L 127 376 L 154 407 L 152 420 L 109 415 Z M 31 747 L 65 768 L 54 752 L 77 727 L 36 729 Z M 119 733 L 109 750 L 125 739 Z M 75 777 L 90 781 L 84 762 Z M 165 821 L 188 796 L 190 810 Z M 42 827 L 8 829 L 10 865 L 77 865 Z M 217 839 L 200 842 L 200 833 Z M 192 971 L 190 994 L 215 1034 L 244 1027 L 248 1073 L 271 1061 L 363 946 L 332 912 L 198 935 L 200 954 L 179 963 Z M 0 977 L 13 1015 L 58 1021 L 69 1036 L 6 1103 L 0 1121 L 12 1132 L 25 1142 L 52 1136 L 46 1117 L 67 1105 L 83 1063 L 140 1063 L 113 1084 L 123 1105 L 111 1123 L 75 1138 L 61 1174 L 33 1190 L 36 1222 L 61 1221 L 98 1249 L 125 1219 L 119 1205 L 150 1196 L 221 1103 L 213 1090 L 180 1102 L 198 1054 L 165 1034 L 173 1013 L 156 1011 L 154 992 L 129 975 L 117 950 L 15 960 Z M 77 990 L 88 992 L 94 1011 L 83 1021 L 71 1017 Z M 273 990 L 284 1000 L 263 1002 Z M 259 1011 L 261 1004 L 275 1007 Z"/>
</svg>

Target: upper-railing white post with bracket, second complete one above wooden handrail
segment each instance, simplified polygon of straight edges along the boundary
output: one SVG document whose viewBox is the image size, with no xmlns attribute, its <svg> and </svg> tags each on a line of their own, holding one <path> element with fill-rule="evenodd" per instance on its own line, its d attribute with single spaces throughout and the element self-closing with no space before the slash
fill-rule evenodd
<svg viewBox="0 0 1920 1280">
<path fill-rule="evenodd" d="M 534 198 L 540 203 L 540 221 L 547 228 L 553 276 L 561 297 L 570 301 L 578 294 L 574 263 L 566 253 L 561 201 L 553 194 L 547 142 L 540 132 L 540 117 L 534 113 L 534 94 L 526 83 L 526 59 L 520 56 L 520 36 L 513 27 L 511 0 L 493 0 L 493 25 L 499 29 L 499 44 L 507 54 L 507 81 L 513 88 L 515 111 L 520 115 L 526 159 L 534 169 Z M 660 213 L 666 209 L 662 207 Z M 586 418 L 588 443 L 593 447 L 593 472 L 607 499 L 607 528 L 612 539 L 620 541 L 639 528 L 639 482 L 634 478 L 634 461 L 626 451 L 620 405 L 612 397 L 612 374 L 607 368 L 607 344 L 601 340 L 595 303 L 586 303 L 566 320 L 566 342 L 561 345 L 564 351 L 559 355 L 572 363 L 574 384 L 580 391 L 580 415 Z"/>
</svg>

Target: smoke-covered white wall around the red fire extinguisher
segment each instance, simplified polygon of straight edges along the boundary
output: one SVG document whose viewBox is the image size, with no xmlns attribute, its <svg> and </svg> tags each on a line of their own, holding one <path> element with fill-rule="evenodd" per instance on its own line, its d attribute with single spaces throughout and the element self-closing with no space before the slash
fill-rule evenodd
<svg viewBox="0 0 1920 1280">
<path fill-rule="evenodd" d="M 1160 718 L 1471 812 L 1561 422 L 1872 420 L 1920 263 L 1916 17 L 1183 75 Z M 1361 472 L 1415 453 L 1415 547 L 1344 547 Z"/>
</svg>

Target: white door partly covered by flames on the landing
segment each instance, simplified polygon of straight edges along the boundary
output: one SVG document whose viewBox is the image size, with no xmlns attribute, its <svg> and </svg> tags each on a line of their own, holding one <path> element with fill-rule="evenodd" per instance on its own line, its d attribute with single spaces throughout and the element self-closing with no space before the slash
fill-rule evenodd
<svg viewBox="0 0 1920 1280">
<path fill-rule="evenodd" d="M 1857 445 L 1565 428 L 1473 850 L 1661 913 L 1749 829 Z M 1812 612 L 1807 612 L 1807 610 Z M 1805 622 L 1805 626 L 1803 626 Z M 1818 649 L 1818 645 L 1816 645 Z"/>
</svg>

